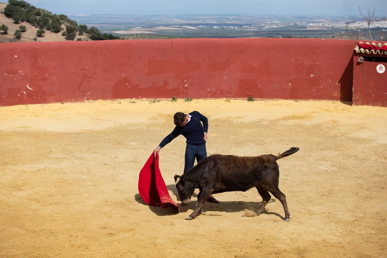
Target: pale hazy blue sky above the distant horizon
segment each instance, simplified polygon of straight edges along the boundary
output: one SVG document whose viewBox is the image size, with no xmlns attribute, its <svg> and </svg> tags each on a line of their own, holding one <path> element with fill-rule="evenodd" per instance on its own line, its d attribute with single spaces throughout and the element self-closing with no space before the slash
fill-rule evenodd
<svg viewBox="0 0 387 258">
<path fill-rule="evenodd" d="M 0 0 L 1 1 L 1 0 Z M 6 2 L 5 0 L 2 0 Z M 53 14 L 259 14 L 360 15 L 374 8 L 387 16 L 383 1 L 364 0 L 31 0 Z"/>
</svg>

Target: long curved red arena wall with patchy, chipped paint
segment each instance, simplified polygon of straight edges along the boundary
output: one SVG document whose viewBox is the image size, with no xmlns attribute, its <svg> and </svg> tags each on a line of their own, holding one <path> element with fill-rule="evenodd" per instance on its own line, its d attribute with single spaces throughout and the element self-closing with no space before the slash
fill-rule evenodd
<svg viewBox="0 0 387 258">
<path fill-rule="evenodd" d="M 352 100 L 338 39 L 150 39 L 0 44 L 0 106 L 124 98 Z"/>
</svg>

